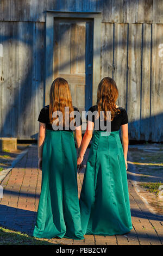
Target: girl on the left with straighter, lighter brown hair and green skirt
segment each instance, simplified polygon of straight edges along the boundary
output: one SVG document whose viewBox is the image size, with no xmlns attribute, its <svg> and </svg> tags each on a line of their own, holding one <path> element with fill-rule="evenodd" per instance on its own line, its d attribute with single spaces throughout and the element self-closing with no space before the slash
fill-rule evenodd
<svg viewBox="0 0 163 256">
<path fill-rule="evenodd" d="M 67 81 L 64 78 L 55 79 L 50 90 L 49 105 L 41 109 L 38 119 L 38 165 L 42 169 L 42 184 L 33 232 L 36 237 L 84 239 L 73 137 L 75 130 L 79 148 L 82 142 L 82 119 L 73 122 L 74 126 L 70 125 L 74 120 L 74 111 L 79 114 L 78 108 L 72 105 Z"/>
</svg>

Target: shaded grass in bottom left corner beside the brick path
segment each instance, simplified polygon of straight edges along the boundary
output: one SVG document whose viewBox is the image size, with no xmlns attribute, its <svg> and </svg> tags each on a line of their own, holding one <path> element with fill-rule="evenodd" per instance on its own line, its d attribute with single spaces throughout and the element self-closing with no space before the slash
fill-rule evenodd
<svg viewBox="0 0 163 256">
<path fill-rule="evenodd" d="M 54 245 L 54 243 L 0 227 L 0 246 L 1 245 Z"/>
</svg>

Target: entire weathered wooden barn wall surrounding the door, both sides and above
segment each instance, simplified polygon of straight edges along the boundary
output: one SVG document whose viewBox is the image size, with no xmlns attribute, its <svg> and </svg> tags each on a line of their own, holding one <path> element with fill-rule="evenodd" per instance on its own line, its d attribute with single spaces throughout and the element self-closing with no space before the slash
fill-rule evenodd
<svg viewBox="0 0 163 256">
<path fill-rule="evenodd" d="M 117 83 L 118 105 L 128 112 L 130 139 L 163 141 L 161 2 L 1 0 L 1 136 L 36 138 L 43 106 L 45 10 L 49 9 L 102 11 L 101 78 L 109 75 Z"/>
</svg>

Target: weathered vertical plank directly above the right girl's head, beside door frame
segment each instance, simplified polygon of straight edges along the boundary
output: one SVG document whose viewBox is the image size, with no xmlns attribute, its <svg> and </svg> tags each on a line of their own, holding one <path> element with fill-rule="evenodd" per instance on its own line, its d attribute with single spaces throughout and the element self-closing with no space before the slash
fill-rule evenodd
<svg viewBox="0 0 163 256">
<path fill-rule="evenodd" d="M 101 32 L 101 79 L 105 76 L 112 77 L 113 69 L 113 29 L 114 25 L 102 23 Z"/>
</svg>

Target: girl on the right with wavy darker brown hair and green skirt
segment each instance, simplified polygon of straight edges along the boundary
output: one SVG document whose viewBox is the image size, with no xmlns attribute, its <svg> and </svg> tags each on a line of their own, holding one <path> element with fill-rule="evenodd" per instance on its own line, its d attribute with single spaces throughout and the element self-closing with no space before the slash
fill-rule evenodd
<svg viewBox="0 0 163 256">
<path fill-rule="evenodd" d="M 120 235 L 132 229 L 126 173 L 128 117 L 126 110 L 116 105 L 117 98 L 115 81 L 104 77 L 98 86 L 97 104 L 87 114 L 78 165 L 83 161 L 93 127 L 95 132 L 80 194 L 83 234 Z M 107 121 L 110 121 L 109 131 Z"/>
</svg>

